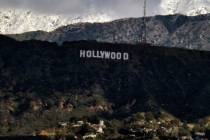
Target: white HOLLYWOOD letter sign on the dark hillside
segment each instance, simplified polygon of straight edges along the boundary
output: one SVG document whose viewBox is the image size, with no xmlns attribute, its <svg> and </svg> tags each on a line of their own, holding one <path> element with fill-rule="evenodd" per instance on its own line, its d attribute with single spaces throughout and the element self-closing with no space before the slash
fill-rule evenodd
<svg viewBox="0 0 210 140">
<path fill-rule="evenodd" d="M 110 60 L 129 60 L 127 52 L 112 52 L 99 50 L 80 50 L 80 58 L 110 59 Z"/>
</svg>

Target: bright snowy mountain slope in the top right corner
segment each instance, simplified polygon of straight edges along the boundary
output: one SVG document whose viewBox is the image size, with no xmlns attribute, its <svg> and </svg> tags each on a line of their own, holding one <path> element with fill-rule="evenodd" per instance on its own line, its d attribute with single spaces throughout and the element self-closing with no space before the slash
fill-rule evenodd
<svg viewBox="0 0 210 140">
<path fill-rule="evenodd" d="M 161 14 L 196 16 L 210 13 L 210 0 L 162 0 Z"/>
</svg>

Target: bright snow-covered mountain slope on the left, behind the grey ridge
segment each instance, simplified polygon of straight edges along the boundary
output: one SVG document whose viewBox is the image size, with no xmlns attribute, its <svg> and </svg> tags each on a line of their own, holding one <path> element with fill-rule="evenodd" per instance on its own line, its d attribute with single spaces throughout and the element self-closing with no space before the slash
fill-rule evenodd
<svg viewBox="0 0 210 140">
<path fill-rule="evenodd" d="M 102 13 L 88 13 L 76 17 L 40 14 L 30 10 L 0 10 L 0 34 L 17 34 L 29 31 L 52 31 L 60 26 L 79 22 L 106 22 L 110 17 Z"/>
</svg>

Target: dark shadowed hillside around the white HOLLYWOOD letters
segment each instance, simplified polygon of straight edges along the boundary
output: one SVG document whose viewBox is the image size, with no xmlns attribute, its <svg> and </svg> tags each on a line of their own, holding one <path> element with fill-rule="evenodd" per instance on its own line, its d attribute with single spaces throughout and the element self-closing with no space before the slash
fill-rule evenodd
<svg viewBox="0 0 210 140">
<path fill-rule="evenodd" d="M 88 49 L 130 58 L 80 58 L 80 50 Z M 201 125 L 210 115 L 209 62 L 204 51 L 85 41 L 57 46 L 0 36 L 0 135 L 32 135 L 59 122 L 98 117 L 122 123 L 122 130 L 113 125 L 119 138 L 138 113 Z"/>
</svg>

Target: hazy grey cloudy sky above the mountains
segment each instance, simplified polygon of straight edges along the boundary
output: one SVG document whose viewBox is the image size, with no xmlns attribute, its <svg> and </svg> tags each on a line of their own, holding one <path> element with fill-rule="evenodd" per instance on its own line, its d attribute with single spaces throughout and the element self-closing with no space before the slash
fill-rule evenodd
<svg viewBox="0 0 210 140">
<path fill-rule="evenodd" d="M 148 15 L 158 13 L 161 0 L 147 0 Z M 142 16 L 143 0 L 0 0 L 0 8 L 24 8 L 41 13 L 83 15 L 105 13 L 113 17 Z"/>
</svg>

